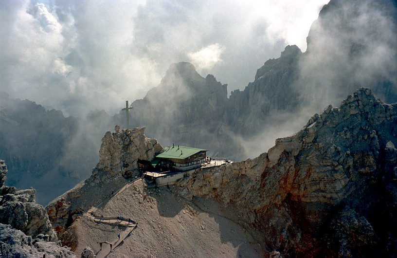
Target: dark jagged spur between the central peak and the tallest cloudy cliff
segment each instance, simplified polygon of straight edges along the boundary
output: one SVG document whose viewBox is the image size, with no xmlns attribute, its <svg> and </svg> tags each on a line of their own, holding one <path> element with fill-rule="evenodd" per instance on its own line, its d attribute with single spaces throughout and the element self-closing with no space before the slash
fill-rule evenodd
<svg viewBox="0 0 397 258">
<path fill-rule="evenodd" d="M 244 91 L 232 92 L 226 116 L 233 131 L 253 136 L 274 120 L 272 116 L 300 105 L 300 94 L 293 83 L 299 75 L 301 55 L 297 46 L 287 46 L 279 58 L 266 61 L 257 70 L 255 80 Z"/>
</svg>

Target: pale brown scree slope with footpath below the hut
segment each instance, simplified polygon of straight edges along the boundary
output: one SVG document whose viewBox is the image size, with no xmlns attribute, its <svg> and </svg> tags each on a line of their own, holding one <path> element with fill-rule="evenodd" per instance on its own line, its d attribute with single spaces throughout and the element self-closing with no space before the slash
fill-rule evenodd
<svg viewBox="0 0 397 258">
<path fill-rule="evenodd" d="M 205 211 L 204 211 L 205 210 Z M 167 187 L 145 187 L 139 179 L 94 211 L 94 216 L 123 216 L 123 225 L 83 216 L 72 224 L 75 253 L 90 246 L 98 258 L 120 257 L 261 257 L 262 247 L 249 232 L 220 215 L 206 199 L 188 201 Z M 138 222 L 126 226 L 128 218 Z M 120 234 L 120 240 L 118 240 Z M 109 244 L 115 243 L 110 252 Z"/>
</svg>

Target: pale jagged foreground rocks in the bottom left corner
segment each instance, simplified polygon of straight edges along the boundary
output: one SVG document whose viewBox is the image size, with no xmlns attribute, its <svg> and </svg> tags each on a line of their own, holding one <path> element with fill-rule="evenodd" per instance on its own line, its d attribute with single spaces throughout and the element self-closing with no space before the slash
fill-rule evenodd
<svg viewBox="0 0 397 258">
<path fill-rule="evenodd" d="M 62 247 L 33 188 L 17 191 L 3 185 L 7 166 L 0 160 L 0 246 L 2 257 L 75 258 Z"/>
</svg>

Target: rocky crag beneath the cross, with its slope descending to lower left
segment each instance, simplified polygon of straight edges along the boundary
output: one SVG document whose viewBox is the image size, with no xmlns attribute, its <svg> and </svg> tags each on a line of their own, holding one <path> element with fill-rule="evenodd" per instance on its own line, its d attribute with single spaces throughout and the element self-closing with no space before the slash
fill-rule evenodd
<svg viewBox="0 0 397 258">
<path fill-rule="evenodd" d="M 72 222 L 90 207 L 107 202 L 112 193 L 131 179 L 141 176 L 137 161 L 150 161 L 162 149 L 156 139 L 144 135 L 144 128 L 119 130 L 116 127 L 116 132 L 106 132 L 99 151 L 99 162 L 91 177 L 46 206 L 62 242 L 72 246 L 77 240 L 71 239 L 73 234 L 66 231 Z"/>
</svg>

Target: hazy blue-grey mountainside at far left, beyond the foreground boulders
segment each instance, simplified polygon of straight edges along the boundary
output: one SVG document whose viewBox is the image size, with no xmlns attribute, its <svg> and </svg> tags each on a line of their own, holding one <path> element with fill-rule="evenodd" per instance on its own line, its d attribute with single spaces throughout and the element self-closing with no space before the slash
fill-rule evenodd
<svg viewBox="0 0 397 258">
<path fill-rule="evenodd" d="M 47 203 L 84 179 L 82 160 L 65 162 L 78 118 L 64 117 L 61 111 L 48 111 L 30 100 L 10 99 L 5 92 L 0 103 L 0 156 L 8 165 L 8 185 L 34 186 L 39 203 Z M 73 155 L 84 157 L 84 152 Z"/>
</svg>

